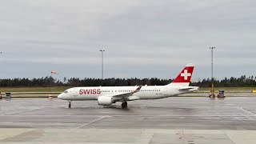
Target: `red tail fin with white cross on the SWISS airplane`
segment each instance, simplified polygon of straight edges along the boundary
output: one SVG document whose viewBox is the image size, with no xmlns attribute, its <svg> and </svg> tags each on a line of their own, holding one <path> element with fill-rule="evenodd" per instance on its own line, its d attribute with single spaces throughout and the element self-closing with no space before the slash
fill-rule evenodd
<svg viewBox="0 0 256 144">
<path fill-rule="evenodd" d="M 173 82 L 170 83 L 171 86 L 189 86 L 190 80 L 193 74 L 194 65 L 187 64 L 185 68 L 178 74 Z"/>
</svg>

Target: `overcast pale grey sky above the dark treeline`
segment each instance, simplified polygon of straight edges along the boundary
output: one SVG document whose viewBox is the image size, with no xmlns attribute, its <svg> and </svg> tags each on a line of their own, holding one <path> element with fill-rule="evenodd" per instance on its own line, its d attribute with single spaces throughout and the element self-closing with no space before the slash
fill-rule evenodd
<svg viewBox="0 0 256 144">
<path fill-rule="evenodd" d="M 0 78 L 174 78 L 256 71 L 253 0 L 6 0 L 0 5 Z"/>
</svg>

